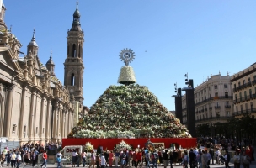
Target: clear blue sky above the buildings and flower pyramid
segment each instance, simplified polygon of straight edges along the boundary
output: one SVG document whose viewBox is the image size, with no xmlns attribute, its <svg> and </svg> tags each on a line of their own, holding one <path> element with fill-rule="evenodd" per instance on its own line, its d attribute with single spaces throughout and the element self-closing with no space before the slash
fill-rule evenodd
<svg viewBox="0 0 256 168">
<path fill-rule="evenodd" d="M 52 57 L 63 83 L 67 29 L 75 0 L 3 0 L 5 23 L 24 45 L 35 40 L 42 63 Z M 83 104 L 91 107 L 117 79 L 124 63 L 120 50 L 131 48 L 137 83 L 147 86 L 174 110 L 174 83 L 195 86 L 207 76 L 242 71 L 256 55 L 255 0 L 80 0 L 84 30 Z M 146 52 L 147 51 L 147 52 Z"/>
</svg>

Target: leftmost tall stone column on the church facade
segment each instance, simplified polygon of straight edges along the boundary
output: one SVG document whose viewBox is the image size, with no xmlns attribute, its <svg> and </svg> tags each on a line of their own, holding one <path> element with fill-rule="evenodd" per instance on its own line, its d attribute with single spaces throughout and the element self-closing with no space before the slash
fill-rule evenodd
<svg viewBox="0 0 256 168">
<path fill-rule="evenodd" d="M 8 87 L 8 101 L 7 101 L 7 108 L 6 108 L 6 129 L 5 129 L 5 136 L 7 138 L 10 137 L 10 132 L 11 132 L 11 117 L 12 117 L 12 108 L 13 108 L 13 88 L 14 84 Z"/>
</svg>

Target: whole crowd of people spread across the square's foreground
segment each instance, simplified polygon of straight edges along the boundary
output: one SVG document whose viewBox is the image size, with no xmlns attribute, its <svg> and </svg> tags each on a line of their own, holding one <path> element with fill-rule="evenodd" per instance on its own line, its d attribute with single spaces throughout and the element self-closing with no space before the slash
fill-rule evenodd
<svg viewBox="0 0 256 168">
<path fill-rule="evenodd" d="M 210 168 L 211 164 L 222 164 L 226 168 L 230 167 L 230 160 L 233 160 L 234 168 L 248 168 L 252 161 L 254 161 L 253 145 L 248 144 L 249 141 L 243 141 L 236 144 L 232 139 L 211 139 L 200 138 L 198 140 L 198 147 L 193 149 L 182 149 L 174 147 L 169 149 L 135 149 L 135 150 L 92 150 L 79 153 L 72 152 L 72 167 L 142 167 L 147 168 L 163 165 L 164 168 L 174 165 L 183 165 L 184 168 Z M 223 145 L 224 144 L 224 145 Z M 246 145 L 247 144 L 247 145 Z M 1 167 L 11 166 L 12 168 L 19 168 L 20 164 L 24 166 L 31 164 L 33 167 L 38 163 L 39 155 L 42 154 L 42 165 L 46 167 L 47 150 L 57 148 L 59 144 L 24 144 L 20 148 L 8 149 L 5 148 L 0 155 Z M 234 151 L 235 155 L 231 155 Z M 61 154 L 61 150 L 56 154 L 56 162 L 58 167 L 61 167 L 61 161 L 65 160 Z"/>
</svg>

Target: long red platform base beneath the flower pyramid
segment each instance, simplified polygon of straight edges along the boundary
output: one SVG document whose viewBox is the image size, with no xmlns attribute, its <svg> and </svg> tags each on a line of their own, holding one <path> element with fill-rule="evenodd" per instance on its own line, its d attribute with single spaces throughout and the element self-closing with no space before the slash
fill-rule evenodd
<svg viewBox="0 0 256 168">
<path fill-rule="evenodd" d="M 79 138 L 67 138 L 62 139 L 62 147 L 69 145 L 85 145 L 87 142 L 93 144 L 94 149 L 97 149 L 98 146 L 102 146 L 105 150 L 113 150 L 115 144 L 119 144 L 122 140 L 125 141 L 126 144 L 131 145 L 133 148 L 136 148 L 138 145 L 140 147 L 144 147 L 145 143 L 147 143 L 147 138 L 141 139 L 79 139 Z M 196 139 L 175 139 L 175 138 L 151 138 L 150 141 L 152 143 L 164 143 L 165 148 L 169 148 L 171 144 L 181 145 L 182 148 L 194 148 L 196 146 Z"/>
</svg>

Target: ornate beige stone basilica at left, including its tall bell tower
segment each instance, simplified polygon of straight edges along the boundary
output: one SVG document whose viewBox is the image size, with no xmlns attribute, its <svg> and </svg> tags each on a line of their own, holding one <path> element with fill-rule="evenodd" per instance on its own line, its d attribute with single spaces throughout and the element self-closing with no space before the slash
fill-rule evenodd
<svg viewBox="0 0 256 168">
<path fill-rule="evenodd" d="M 35 31 L 27 46 L 8 31 L 0 16 L 0 137 L 9 141 L 45 144 L 67 137 L 83 107 L 83 30 L 80 13 L 73 14 L 67 37 L 64 85 L 55 76 L 51 54 L 46 65 L 40 62 Z M 23 55 L 23 57 L 19 57 Z"/>
</svg>

